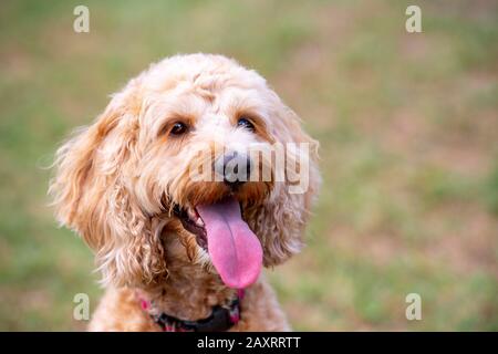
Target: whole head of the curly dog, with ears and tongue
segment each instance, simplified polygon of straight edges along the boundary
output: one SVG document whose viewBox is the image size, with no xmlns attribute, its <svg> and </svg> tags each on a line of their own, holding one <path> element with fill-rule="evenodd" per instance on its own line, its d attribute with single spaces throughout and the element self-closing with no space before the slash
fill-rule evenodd
<svg viewBox="0 0 498 354">
<path fill-rule="evenodd" d="M 184 257 L 245 288 L 262 263 L 300 249 L 315 150 L 257 73 L 219 55 L 174 56 L 60 148 L 50 190 L 60 221 L 96 251 L 104 281 L 157 282 Z"/>
</svg>

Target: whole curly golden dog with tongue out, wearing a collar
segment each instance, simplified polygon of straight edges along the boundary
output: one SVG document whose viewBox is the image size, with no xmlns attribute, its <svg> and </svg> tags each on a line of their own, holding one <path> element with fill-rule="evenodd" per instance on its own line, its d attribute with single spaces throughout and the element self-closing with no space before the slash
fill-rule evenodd
<svg viewBox="0 0 498 354">
<path fill-rule="evenodd" d="M 248 148 L 276 144 L 309 144 L 309 156 L 286 149 L 281 180 L 274 167 L 267 180 L 227 176 L 234 160 L 248 174 L 270 166 Z M 317 147 L 260 75 L 225 56 L 177 55 L 132 80 L 58 150 L 50 187 L 103 274 L 90 330 L 289 330 L 260 270 L 300 250 Z M 289 163 L 308 178 L 302 192 Z M 189 173 L 219 165 L 221 179 Z"/>
</svg>

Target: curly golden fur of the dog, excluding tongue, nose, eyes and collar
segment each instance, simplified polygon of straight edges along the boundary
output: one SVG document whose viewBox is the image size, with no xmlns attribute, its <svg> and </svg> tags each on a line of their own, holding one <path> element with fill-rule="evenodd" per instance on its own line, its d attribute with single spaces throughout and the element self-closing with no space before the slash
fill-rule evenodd
<svg viewBox="0 0 498 354">
<path fill-rule="evenodd" d="M 234 128 L 241 114 L 251 117 L 253 133 Z M 195 126 L 195 134 L 170 137 L 178 119 Z M 286 181 L 250 181 L 238 195 L 243 219 L 262 244 L 263 264 L 271 267 L 302 246 L 319 186 L 318 144 L 256 72 L 221 55 L 166 59 L 113 95 L 104 113 L 58 150 L 50 186 L 56 217 L 94 250 L 107 289 L 91 330 L 158 330 L 141 309 L 137 289 L 185 320 L 206 317 L 235 296 L 172 206 L 214 202 L 228 192 L 222 183 L 188 178 L 188 169 L 206 158 L 196 146 L 273 142 L 312 148 L 307 192 L 290 194 Z M 289 329 L 263 277 L 246 293 L 232 330 Z"/>
</svg>

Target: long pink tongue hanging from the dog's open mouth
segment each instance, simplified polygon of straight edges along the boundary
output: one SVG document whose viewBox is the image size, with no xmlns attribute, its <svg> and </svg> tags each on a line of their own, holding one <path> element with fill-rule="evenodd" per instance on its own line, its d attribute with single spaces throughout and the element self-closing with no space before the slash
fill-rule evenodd
<svg viewBox="0 0 498 354">
<path fill-rule="evenodd" d="M 208 252 L 226 285 L 243 289 L 261 272 L 262 249 L 256 235 L 240 215 L 234 198 L 197 206 L 206 226 Z"/>
</svg>

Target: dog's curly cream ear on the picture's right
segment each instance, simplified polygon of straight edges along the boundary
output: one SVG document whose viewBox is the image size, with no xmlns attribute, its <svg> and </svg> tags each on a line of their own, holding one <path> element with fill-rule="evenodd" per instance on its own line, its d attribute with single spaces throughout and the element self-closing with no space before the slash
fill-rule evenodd
<svg viewBox="0 0 498 354">
<path fill-rule="evenodd" d="M 302 248 L 304 227 L 321 183 L 319 143 L 304 133 L 300 118 L 276 94 L 273 100 L 270 133 L 284 149 L 286 178 L 284 181 L 274 181 L 267 202 L 252 225 L 261 238 L 267 267 L 283 262 Z"/>
</svg>

